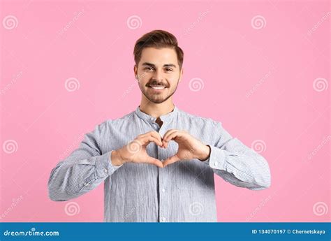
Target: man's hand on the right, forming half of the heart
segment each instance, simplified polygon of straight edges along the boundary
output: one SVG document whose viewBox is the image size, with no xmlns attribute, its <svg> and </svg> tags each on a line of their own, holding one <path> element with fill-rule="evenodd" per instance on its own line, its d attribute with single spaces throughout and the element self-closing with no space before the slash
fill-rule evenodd
<svg viewBox="0 0 331 241">
<path fill-rule="evenodd" d="M 178 143 L 178 151 L 174 156 L 169 157 L 163 161 L 163 168 L 169 164 L 175 163 L 179 160 L 199 159 L 205 161 L 209 158 L 210 147 L 194 138 L 186 131 L 179 131 L 171 129 L 163 136 L 163 146 L 168 147 L 170 140 L 175 140 Z"/>
</svg>

